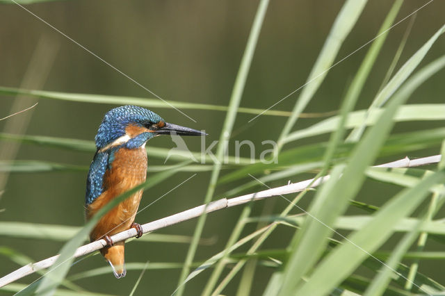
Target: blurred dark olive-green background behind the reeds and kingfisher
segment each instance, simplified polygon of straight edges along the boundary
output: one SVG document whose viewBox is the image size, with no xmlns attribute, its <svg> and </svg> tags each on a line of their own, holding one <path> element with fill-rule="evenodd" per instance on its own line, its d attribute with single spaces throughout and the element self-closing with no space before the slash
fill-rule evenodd
<svg viewBox="0 0 445 296">
<path fill-rule="evenodd" d="M 426 2 L 405 1 L 397 19 L 403 19 Z M 271 1 L 241 106 L 268 108 L 305 83 L 342 4 L 343 1 Z M 33 4 L 26 8 L 163 99 L 227 106 L 257 5 L 257 1 L 113 0 L 56 1 Z M 337 60 L 375 37 L 391 5 L 392 1 L 370 1 L 367 4 L 357 25 L 343 44 Z M 432 1 L 416 14 L 398 67 L 442 26 L 444 11 L 444 1 Z M 401 22 L 389 32 L 382 53 L 357 103 L 357 109 L 367 108 L 375 92 L 380 88 L 380 83 L 410 20 L 411 18 Z M 43 90 L 154 98 L 136 83 L 14 4 L 0 4 L 0 85 L 19 88 L 39 42 L 57 48 L 54 63 L 47 79 L 44 80 Z M 330 70 L 305 112 L 321 113 L 339 108 L 344 90 L 355 75 L 366 49 L 367 47 L 357 51 Z M 426 65 L 444 54 L 444 51 L 445 40 L 442 37 L 434 44 L 421 65 Z M 443 103 L 444 93 L 442 71 L 416 90 L 409 103 Z M 274 109 L 291 110 L 297 95 L 298 92 Z M 0 117 L 10 113 L 14 99 L 14 97 L 1 97 Z M 30 100 L 29 106 L 31 105 Z M 113 107 L 113 105 L 41 99 L 33 111 L 26 134 L 93 140 L 104 113 Z M 206 139 L 207 145 L 213 140 L 218 140 L 225 118 L 224 112 L 184 110 L 187 115 L 197 120 L 195 123 L 177 110 L 165 108 L 153 111 L 168 122 L 205 129 L 209 133 Z M 28 115 L 23 113 L 17 116 Z M 229 144 L 229 153 L 234 153 L 235 140 L 252 140 L 256 145 L 256 156 L 259 157 L 264 149 L 261 141 L 276 140 L 282 125 L 286 122 L 284 117 L 260 116 L 248 123 L 252 117 L 253 115 L 238 115 L 233 142 Z M 299 120 L 294 129 L 301 129 L 318 120 Z M 3 129 L 4 124 L 5 121 L 0 122 L 0 129 Z M 426 124 L 436 127 L 441 126 L 442 122 L 422 122 L 421 126 L 415 123 L 397 124 L 396 131 L 425 129 L 428 127 Z M 327 137 L 328 135 L 323 135 L 292 142 L 286 148 Z M 199 139 L 184 140 L 192 151 L 200 150 Z M 4 143 L 0 142 L 0 147 L 1 145 Z M 148 146 L 175 147 L 169 137 L 151 140 Z M 430 149 L 416 151 L 409 156 L 438 153 L 439 149 Z M 247 149 L 241 151 L 241 156 L 249 156 Z M 404 156 L 402 154 L 391 159 Z M 17 159 L 70 163 L 88 167 L 92 154 L 22 145 Z M 149 165 L 162 164 L 161 160 L 149 159 Z M 167 164 L 173 162 L 168 161 Z M 192 174 L 188 172 L 176 174 L 170 181 L 148 190 L 143 196 L 141 207 Z M 209 176 L 207 172 L 198 173 L 191 181 L 184 183 L 138 214 L 136 221 L 149 222 L 202 204 Z M 312 176 L 313 174 L 302 174 L 298 179 L 291 181 L 309 179 Z M 81 226 L 84 223 L 85 180 L 86 171 L 11 174 L 0 199 L 0 208 L 5 209 L 0 213 L 0 220 Z M 241 183 L 244 182 L 220 186 L 217 188 L 217 195 Z M 268 185 L 280 186 L 284 183 L 287 183 L 287 180 Z M 362 201 L 380 205 L 385 202 L 383 192 L 386 194 L 397 190 L 399 189 L 395 186 L 391 188 L 388 184 L 367 181 L 359 196 Z M 304 200 L 301 205 L 305 206 L 308 202 L 309 200 Z M 287 202 L 281 198 L 257 202 L 253 215 L 259 215 L 264 211 L 264 207 L 272 208 L 270 211 L 280 211 L 286 205 Z M 223 249 L 240 211 L 241 208 L 230 208 L 208 217 L 203 237 L 215 238 L 216 243 L 200 246 L 195 258 L 197 261 L 205 260 Z M 191 236 L 195 223 L 195 220 L 191 220 L 163 229 L 159 233 Z M 253 229 L 254 225 L 250 229 L 247 227 L 245 233 Z M 289 229 L 275 231 L 265 247 L 282 247 L 287 244 L 292 233 L 293 231 Z M 63 243 L 2 237 L 0 245 L 12 247 L 38 261 L 56 254 Z M 127 263 L 147 260 L 181 263 L 184 261 L 187 248 L 186 244 L 131 242 L 127 244 L 126 261 Z M 427 245 L 427 249 L 434 250 L 435 244 Z M 101 256 L 93 256 L 76 264 L 72 268 L 72 273 L 105 265 Z M 0 257 L 0 276 L 16 268 L 18 266 L 15 263 Z M 420 265 L 421 272 L 427 275 L 434 274 L 434 279 L 445 283 L 443 272 L 442 278 L 437 278 L 438 271 L 442 268 L 443 263 L 437 261 L 428 261 Z M 126 295 L 131 291 L 139 273 L 129 270 L 127 277 L 117 280 L 110 270 L 110 274 L 83 279 L 77 283 L 95 292 Z M 271 270 L 268 268 L 257 270 L 252 295 L 257 295 L 264 289 L 270 273 Z M 196 295 L 201 291 L 207 276 L 208 274 L 204 272 L 188 283 L 186 295 Z M 147 270 L 136 294 L 141 295 L 140 293 L 145 291 L 151 295 L 170 295 L 178 277 L 179 270 Z M 28 283 L 30 279 L 35 278 L 37 277 L 27 277 L 20 282 Z M 234 289 L 236 287 L 229 286 L 225 294 L 232 295 Z"/>
</svg>

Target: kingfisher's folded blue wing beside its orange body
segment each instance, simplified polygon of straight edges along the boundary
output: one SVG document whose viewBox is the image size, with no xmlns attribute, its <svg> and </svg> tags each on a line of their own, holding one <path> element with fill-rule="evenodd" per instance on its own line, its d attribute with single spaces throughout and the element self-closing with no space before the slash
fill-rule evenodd
<svg viewBox="0 0 445 296">
<path fill-rule="evenodd" d="M 92 159 L 88 178 L 86 179 L 85 204 L 91 204 L 102 194 L 104 174 L 108 167 L 108 151 L 97 151 Z"/>
</svg>

